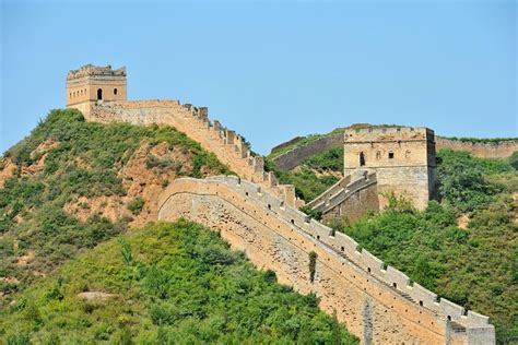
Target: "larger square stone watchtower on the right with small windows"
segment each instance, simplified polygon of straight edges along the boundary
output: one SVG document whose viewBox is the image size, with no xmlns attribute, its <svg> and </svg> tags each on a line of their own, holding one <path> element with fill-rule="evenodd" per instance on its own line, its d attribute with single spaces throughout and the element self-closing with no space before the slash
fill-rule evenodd
<svg viewBox="0 0 518 345">
<path fill-rule="evenodd" d="M 376 172 L 382 194 L 405 195 L 416 209 L 436 197 L 435 135 L 427 128 L 369 128 L 344 132 L 344 176 L 358 169 Z"/>
</svg>

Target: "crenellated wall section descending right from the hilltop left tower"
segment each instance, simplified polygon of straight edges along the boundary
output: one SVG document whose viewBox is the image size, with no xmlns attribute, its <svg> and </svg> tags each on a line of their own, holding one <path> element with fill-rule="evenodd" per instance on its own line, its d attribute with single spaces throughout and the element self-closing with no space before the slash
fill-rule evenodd
<svg viewBox="0 0 518 345">
<path fill-rule="evenodd" d="M 151 126 L 166 124 L 186 133 L 204 150 L 216 155 L 223 164 L 244 179 L 259 183 L 287 204 L 299 207 L 303 200 L 295 197 L 291 185 L 278 185 L 271 171 L 264 170 L 264 158 L 252 156 L 245 140 L 219 121 L 209 120 L 207 107 L 180 105 L 178 100 L 137 100 L 96 103 L 90 109 L 90 121 L 129 122 Z"/>
</svg>

